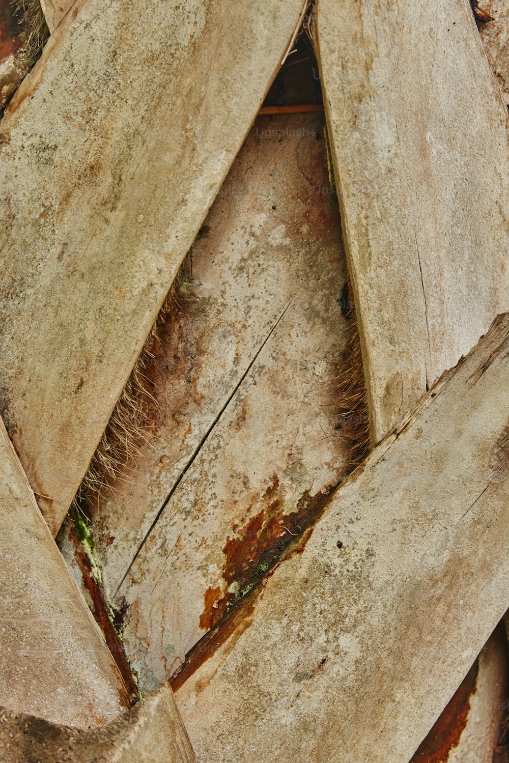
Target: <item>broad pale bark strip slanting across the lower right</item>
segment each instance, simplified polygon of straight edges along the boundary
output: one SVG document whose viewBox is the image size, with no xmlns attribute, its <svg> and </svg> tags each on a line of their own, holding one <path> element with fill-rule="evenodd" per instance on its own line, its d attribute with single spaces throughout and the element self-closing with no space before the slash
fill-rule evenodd
<svg viewBox="0 0 509 763">
<path fill-rule="evenodd" d="M 491 467 L 507 385 L 506 315 L 179 689 L 198 760 L 407 763 L 509 604 L 509 481 Z"/>
</svg>

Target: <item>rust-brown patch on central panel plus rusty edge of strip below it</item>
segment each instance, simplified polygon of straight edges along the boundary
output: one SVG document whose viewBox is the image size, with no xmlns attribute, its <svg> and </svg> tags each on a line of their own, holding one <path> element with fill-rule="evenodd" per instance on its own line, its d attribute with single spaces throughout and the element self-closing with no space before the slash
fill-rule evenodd
<svg viewBox="0 0 509 763">
<path fill-rule="evenodd" d="M 263 494 L 268 501 L 266 509 L 249 520 L 237 537 L 227 539 L 223 575 L 228 588 L 236 584 L 237 593 L 221 597 L 219 587 L 206 591 L 200 625 L 209 630 L 185 655 L 182 668 L 170 679 L 174 691 L 226 642 L 229 642 L 228 651 L 234 648 L 252 623 L 256 599 L 263 590 L 263 583 L 279 562 L 304 550 L 314 523 L 324 513 L 337 485 L 314 496 L 304 491 L 297 509 L 289 514 L 280 511 L 282 498 L 276 495 L 278 488 L 279 480 L 274 475 L 272 485 Z"/>
</svg>

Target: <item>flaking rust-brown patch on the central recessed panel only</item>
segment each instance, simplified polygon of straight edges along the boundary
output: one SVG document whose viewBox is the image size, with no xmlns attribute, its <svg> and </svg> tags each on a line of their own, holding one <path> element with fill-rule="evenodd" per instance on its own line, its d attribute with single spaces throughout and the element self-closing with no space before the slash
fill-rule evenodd
<svg viewBox="0 0 509 763">
<path fill-rule="evenodd" d="M 208 588 L 205 608 L 200 616 L 201 628 L 214 628 L 238 600 L 259 584 L 288 546 L 292 542 L 295 545 L 295 539 L 302 538 L 314 525 L 335 487 L 330 486 L 325 493 L 319 492 L 313 497 L 305 491 L 297 509 L 285 514 L 282 511 L 284 501 L 277 494 L 279 480 L 273 475 L 272 485 L 262 496 L 266 508 L 252 517 L 236 536 L 227 538 L 223 549 L 223 579 L 227 594 L 221 595 L 220 587 Z M 307 540 L 308 536 L 305 537 Z"/>
</svg>

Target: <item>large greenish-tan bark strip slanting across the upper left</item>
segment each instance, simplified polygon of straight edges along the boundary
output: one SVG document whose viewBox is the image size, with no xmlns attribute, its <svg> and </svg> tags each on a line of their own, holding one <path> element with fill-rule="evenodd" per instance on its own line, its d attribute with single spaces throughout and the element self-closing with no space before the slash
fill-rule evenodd
<svg viewBox="0 0 509 763">
<path fill-rule="evenodd" d="M 0 401 L 58 530 L 302 0 L 78 0 L 0 129 Z"/>
</svg>

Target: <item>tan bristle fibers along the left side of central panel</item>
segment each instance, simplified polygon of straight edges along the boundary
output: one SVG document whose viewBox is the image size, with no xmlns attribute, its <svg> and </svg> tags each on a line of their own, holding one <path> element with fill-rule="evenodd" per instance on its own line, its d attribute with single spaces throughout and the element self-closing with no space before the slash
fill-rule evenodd
<svg viewBox="0 0 509 763">
<path fill-rule="evenodd" d="M 125 468 L 133 465 L 137 453 L 140 452 L 140 444 L 146 440 L 145 433 L 150 429 L 150 409 L 156 405 L 153 385 L 147 376 L 147 367 L 161 351 L 163 327 L 175 323 L 175 314 L 179 307 L 179 285 L 188 281 L 187 269 L 186 258 L 114 407 L 108 426 L 76 492 L 72 502 L 73 509 L 83 511 L 85 503 L 97 503 L 105 491 L 113 491 L 115 479 Z"/>
</svg>

